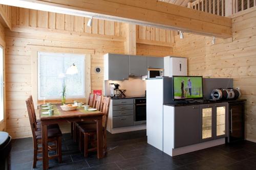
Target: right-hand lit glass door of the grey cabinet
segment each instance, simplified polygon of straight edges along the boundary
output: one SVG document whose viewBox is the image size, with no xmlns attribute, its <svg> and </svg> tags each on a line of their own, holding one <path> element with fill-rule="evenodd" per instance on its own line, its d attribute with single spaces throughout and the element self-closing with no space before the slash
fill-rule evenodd
<svg viewBox="0 0 256 170">
<path fill-rule="evenodd" d="M 216 106 L 217 126 L 216 135 L 222 136 L 226 134 L 226 106 Z"/>
</svg>

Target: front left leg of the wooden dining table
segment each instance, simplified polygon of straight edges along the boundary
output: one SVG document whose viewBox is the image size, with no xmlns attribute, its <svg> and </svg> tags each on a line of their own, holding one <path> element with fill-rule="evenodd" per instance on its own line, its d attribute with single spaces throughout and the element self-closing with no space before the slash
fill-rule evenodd
<svg viewBox="0 0 256 170">
<path fill-rule="evenodd" d="M 49 169 L 48 158 L 48 131 L 47 125 L 41 125 L 42 130 L 42 169 Z"/>
</svg>

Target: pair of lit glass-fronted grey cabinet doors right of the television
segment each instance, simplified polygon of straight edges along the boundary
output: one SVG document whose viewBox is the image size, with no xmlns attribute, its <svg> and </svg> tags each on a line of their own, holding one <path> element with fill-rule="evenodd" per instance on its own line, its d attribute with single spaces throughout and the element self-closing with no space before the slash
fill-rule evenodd
<svg viewBox="0 0 256 170">
<path fill-rule="evenodd" d="M 227 136 L 227 103 L 200 105 L 200 142 Z"/>
</svg>

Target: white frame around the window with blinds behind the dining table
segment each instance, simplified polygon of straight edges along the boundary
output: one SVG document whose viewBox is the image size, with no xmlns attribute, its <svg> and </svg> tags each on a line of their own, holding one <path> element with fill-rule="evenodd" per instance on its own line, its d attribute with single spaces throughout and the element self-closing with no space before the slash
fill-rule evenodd
<svg viewBox="0 0 256 170">
<path fill-rule="evenodd" d="M 40 57 L 41 55 L 50 55 L 50 56 L 81 56 L 83 57 L 83 95 L 66 95 L 66 99 L 79 99 L 79 98 L 86 98 L 86 55 L 84 54 L 72 54 L 72 53 L 52 53 L 52 52 L 37 52 L 37 98 L 38 100 L 55 100 L 60 99 L 59 96 L 48 96 L 48 98 L 40 96 Z"/>
</svg>

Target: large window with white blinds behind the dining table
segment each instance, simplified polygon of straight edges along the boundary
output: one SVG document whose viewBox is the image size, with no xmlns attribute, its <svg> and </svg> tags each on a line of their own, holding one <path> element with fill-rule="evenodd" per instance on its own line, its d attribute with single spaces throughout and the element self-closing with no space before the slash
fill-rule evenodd
<svg viewBox="0 0 256 170">
<path fill-rule="evenodd" d="M 78 73 L 67 75 L 75 64 Z M 85 98 L 85 56 L 78 54 L 38 53 L 38 100 L 60 99 L 66 84 L 66 98 Z"/>
</svg>

